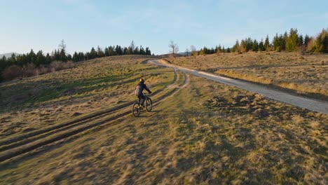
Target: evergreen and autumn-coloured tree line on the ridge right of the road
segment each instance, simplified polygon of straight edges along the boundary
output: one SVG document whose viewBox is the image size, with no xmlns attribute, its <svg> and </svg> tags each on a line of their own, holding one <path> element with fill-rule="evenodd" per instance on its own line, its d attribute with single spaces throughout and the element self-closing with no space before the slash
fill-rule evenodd
<svg viewBox="0 0 328 185">
<path fill-rule="evenodd" d="M 301 51 L 309 53 L 328 53 L 328 29 L 322 29 L 322 32 L 317 36 L 305 36 L 298 33 L 297 29 L 290 29 L 289 33 L 275 34 L 273 40 L 270 42 L 268 35 L 263 41 L 257 41 L 257 39 L 246 38 L 241 41 L 235 41 L 235 45 L 232 48 L 224 48 L 216 46 L 215 48 L 201 48 L 200 50 L 194 50 L 191 55 L 207 55 L 214 53 L 245 53 L 248 51 L 285 51 L 295 52 Z"/>
</svg>

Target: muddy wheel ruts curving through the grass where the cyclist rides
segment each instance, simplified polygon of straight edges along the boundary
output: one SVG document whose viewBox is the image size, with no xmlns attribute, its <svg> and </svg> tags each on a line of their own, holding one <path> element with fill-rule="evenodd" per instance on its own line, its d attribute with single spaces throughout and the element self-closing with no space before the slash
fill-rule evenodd
<svg viewBox="0 0 328 185">
<path fill-rule="evenodd" d="M 173 83 L 177 83 L 177 71 L 175 71 L 175 79 Z M 165 100 L 166 98 L 170 97 L 171 95 L 177 93 L 177 91 L 181 88 L 183 88 L 186 83 L 188 83 L 189 80 L 186 79 L 186 74 L 184 74 L 184 83 L 182 85 L 179 85 L 178 88 L 172 88 L 169 89 L 167 93 L 164 95 L 161 95 L 160 97 L 156 98 L 154 101 L 154 106 L 158 105 L 161 101 Z M 159 92 L 158 92 L 159 93 Z M 67 123 L 63 123 L 61 126 L 56 125 L 55 129 L 47 128 L 47 135 L 43 135 L 43 137 L 40 137 L 41 130 L 39 132 L 34 132 L 34 135 L 31 133 L 29 135 L 23 135 L 19 138 L 17 137 L 19 141 L 18 144 L 11 144 L 11 147 L 7 147 L 6 150 L 0 152 L 0 163 L 11 159 L 15 157 L 20 157 L 24 155 L 25 153 L 29 153 L 30 151 L 34 151 L 35 149 L 40 148 L 41 146 L 46 146 L 49 144 L 53 144 L 54 142 L 58 142 L 62 139 L 77 135 L 83 131 L 90 130 L 91 128 L 95 128 L 100 125 L 104 125 L 106 123 L 109 123 L 111 121 L 115 121 L 118 118 L 122 118 L 123 116 L 127 116 L 128 114 L 131 114 L 130 107 L 132 103 L 128 102 L 126 104 L 122 104 L 118 107 L 111 108 L 107 111 L 97 112 L 95 114 L 91 114 L 88 116 L 84 116 L 83 118 L 76 119 L 74 121 L 70 121 Z M 121 112 L 119 112 L 121 111 Z M 111 116 L 111 114 L 108 113 L 116 113 L 115 116 Z M 106 114 L 106 115 L 104 115 Z M 110 117 L 105 117 L 110 116 Z M 100 118 L 103 118 L 102 120 L 99 120 Z M 81 121 L 83 124 L 81 124 Z M 74 125 L 71 125 L 71 127 L 65 128 L 65 126 L 69 126 L 69 123 Z M 64 126 L 63 126 L 64 125 Z M 58 127 L 58 128 L 57 128 Z M 60 129 L 60 130 L 58 130 Z M 51 131 L 51 132 L 50 132 Z M 14 140 L 14 139 L 13 139 Z M 11 140 L 11 141 L 13 141 Z M 4 149 L 4 148 L 3 148 Z"/>
</svg>

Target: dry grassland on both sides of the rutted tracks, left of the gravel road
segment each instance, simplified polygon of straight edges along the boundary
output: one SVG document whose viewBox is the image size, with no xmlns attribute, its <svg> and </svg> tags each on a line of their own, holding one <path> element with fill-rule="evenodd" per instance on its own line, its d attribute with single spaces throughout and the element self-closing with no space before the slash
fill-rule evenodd
<svg viewBox="0 0 328 185">
<path fill-rule="evenodd" d="M 172 69 L 142 60 L 108 57 L 72 71 L 1 84 L 1 93 L 13 98 L 16 91 L 9 87 L 49 81 L 36 86 L 35 95 L 43 101 L 33 100 L 33 95 L 21 103 L 1 99 L 6 103 L 6 109 L 1 107 L 1 129 L 32 115 L 40 121 L 34 125 L 27 120 L 25 129 L 37 129 L 46 124 L 45 117 L 58 119 L 53 114 L 58 107 L 60 118 L 69 119 L 75 112 L 88 114 L 120 104 L 118 100 L 133 100 L 131 88 L 141 75 L 152 90 L 175 88 L 172 81 L 184 85 L 139 118 L 129 114 L 1 162 L 1 184 L 327 184 L 326 114 L 203 78 L 178 73 L 175 79 Z M 60 90 L 51 97 L 43 94 L 64 84 L 79 89 L 68 95 Z M 52 114 L 31 114 L 43 109 Z M 11 135 L 23 132 L 18 128 Z M 11 136 L 1 133 L 1 139 Z"/>
</svg>

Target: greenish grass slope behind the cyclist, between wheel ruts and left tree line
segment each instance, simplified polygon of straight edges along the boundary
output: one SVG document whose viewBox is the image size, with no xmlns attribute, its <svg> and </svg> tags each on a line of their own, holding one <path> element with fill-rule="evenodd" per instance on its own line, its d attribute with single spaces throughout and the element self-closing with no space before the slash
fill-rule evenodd
<svg viewBox="0 0 328 185">
<path fill-rule="evenodd" d="M 141 77 L 151 82 L 153 92 L 171 83 L 172 69 L 142 64 L 144 60 L 102 58 L 78 63 L 74 69 L 1 83 L 1 139 L 135 100 L 133 91 Z"/>
</svg>

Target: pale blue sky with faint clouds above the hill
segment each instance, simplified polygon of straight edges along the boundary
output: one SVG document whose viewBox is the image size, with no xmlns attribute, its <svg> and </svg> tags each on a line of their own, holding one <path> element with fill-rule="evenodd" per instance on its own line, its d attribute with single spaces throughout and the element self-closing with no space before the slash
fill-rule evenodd
<svg viewBox="0 0 328 185">
<path fill-rule="evenodd" d="M 71 54 L 133 40 L 160 55 L 170 41 L 184 52 L 272 39 L 291 28 L 315 36 L 328 28 L 328 1 L 0 0 L 0 22 L 0 53 L 51 53 L 64 39 Z"/>
</svg>

